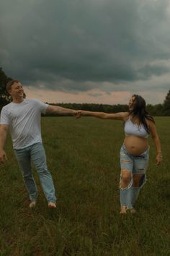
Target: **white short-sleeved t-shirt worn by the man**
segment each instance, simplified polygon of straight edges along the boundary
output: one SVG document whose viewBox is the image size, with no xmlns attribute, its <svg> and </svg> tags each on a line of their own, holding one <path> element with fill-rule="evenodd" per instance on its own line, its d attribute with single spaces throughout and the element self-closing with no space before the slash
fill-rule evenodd
<svg viewBox="0 0 170 256">
<path fill-rule="evenodd" d="M 41 113 L 48 104 L 36 99 L 24 99 L 22 103 L 9 103 L 1 109 L 0 124 L 8 124 L 14 149 L 26 148 L 41 138 Z"/>
</svg>

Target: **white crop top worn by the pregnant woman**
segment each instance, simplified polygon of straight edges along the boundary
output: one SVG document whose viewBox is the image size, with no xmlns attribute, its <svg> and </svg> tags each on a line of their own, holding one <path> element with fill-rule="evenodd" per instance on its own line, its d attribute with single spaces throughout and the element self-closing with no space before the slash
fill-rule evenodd
<svg viewBox="0 0 170 256">
<path fill-rule="evenodd" d="M 133 122 L 130 119 L 128 119 L 125 122 L 124 130 L 125 130 L 125 135 L 135 135 L 143 138 L 148 137 L 148 132 L 146 132 L 144 125 L 133 124 Z"/>
</svg>

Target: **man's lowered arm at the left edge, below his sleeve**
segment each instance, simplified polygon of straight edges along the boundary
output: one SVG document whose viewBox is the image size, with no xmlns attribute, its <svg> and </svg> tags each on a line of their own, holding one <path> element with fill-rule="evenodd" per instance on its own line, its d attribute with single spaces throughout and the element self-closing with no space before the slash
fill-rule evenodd
<svg viewBox="0 0 170 256">
<path fill-rule="evenodd" d="M 1 124 L 0 125 L 0 163 L 4 163 L 6 158 L 6 153 L 4 151 L 4 145 L 6 142 L 6 135 L 8 132 L 9 125 Z"/>
</svg>

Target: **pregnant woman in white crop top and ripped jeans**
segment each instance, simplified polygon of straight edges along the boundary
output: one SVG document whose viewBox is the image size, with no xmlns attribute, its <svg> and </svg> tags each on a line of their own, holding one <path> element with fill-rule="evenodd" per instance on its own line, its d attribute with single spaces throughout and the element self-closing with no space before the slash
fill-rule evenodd
<svg viewBox="0 0 170 256">
<path fill-rule="evenodd" d="M 161 144 L 156 132 L 155 121 L 146 111 L 146 101 L 133 95 L 128 103 L 129 111 L 116 114 L 79 111 L 81 116 L 115 119 L 124 122 L 125 139 L 120 148 L 120 213 L 136 213 L 135 200 L 146 182 L 149 159 L 148 135 L 151 134 L 156 147 L 156 165 L 161 163 Z"/>
</svg>

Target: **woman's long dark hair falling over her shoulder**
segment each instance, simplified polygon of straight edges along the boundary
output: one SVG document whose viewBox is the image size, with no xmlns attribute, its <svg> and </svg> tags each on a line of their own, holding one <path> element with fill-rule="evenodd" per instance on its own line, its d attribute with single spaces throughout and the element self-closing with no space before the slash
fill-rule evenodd
<svg viewBox="0 0 170 256">
<path fill-rule="evenodd" d="M 134 94 L 132 97 L 135 99 L 133 101 L 133 109 L 129 111 L 129 115 L 137 116 L 139 119 L 139 124 L 143 124 L 146 132 L 149 134 L 150 131 L 146 119 L 153 121 L 153 123 L 155 123 L 155 121 L 153 117 L 148 114 L 148 111 L 146 111 L 146 101 L 140 95 Z"/>
</svg>

